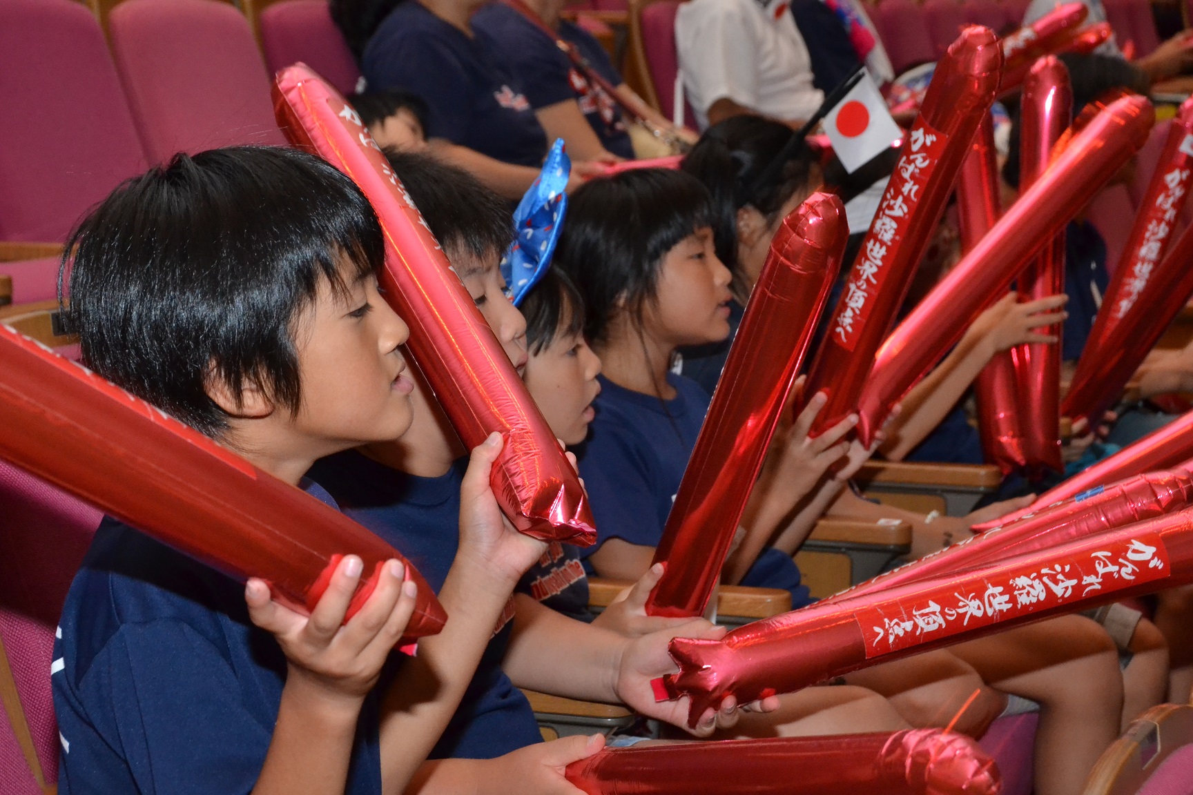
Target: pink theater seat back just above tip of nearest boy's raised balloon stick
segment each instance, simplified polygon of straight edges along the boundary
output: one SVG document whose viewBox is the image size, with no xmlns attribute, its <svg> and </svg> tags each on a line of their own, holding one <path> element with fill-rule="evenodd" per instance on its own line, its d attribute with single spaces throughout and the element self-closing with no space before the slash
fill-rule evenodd
<svg viewBox="0 0 1193 795">
<path fill-rule="evenodd" d="M 356 91 L 360 69 L 327 0 L 283 0 L 261 12 L 261 49 L 271 73 L 302 61 L 344 94 Z"/>
</svg>

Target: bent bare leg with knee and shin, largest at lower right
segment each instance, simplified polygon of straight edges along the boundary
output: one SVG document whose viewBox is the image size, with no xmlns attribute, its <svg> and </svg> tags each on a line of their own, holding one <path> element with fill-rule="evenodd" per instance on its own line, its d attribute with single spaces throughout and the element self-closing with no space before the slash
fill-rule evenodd
<svg viewBox="0 0 1193 795">
<path fill-rule="evenodd" d="M 1039 702 L 1036 794 L 1078 795 L 1123 715 L 1118 651 L 1101 626 L 1061 616 L 952 651 L 990 685 Z"/>
</svg>

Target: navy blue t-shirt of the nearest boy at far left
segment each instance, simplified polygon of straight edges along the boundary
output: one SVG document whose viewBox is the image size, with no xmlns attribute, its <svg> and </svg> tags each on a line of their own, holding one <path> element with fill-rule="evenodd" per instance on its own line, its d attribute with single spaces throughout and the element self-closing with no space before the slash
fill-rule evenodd
<svg viewBox="0 0 1193 795">
<path fill-rule="evenodd" d="M 248 793 L 286 660 L 249 621 L 241 583 L 105 518 L 67 594 L 50 673 L 63 795 Z M 352 795 L 382 791 L 378 692 L 390 681 L 361 709 Z"/>
</svg>

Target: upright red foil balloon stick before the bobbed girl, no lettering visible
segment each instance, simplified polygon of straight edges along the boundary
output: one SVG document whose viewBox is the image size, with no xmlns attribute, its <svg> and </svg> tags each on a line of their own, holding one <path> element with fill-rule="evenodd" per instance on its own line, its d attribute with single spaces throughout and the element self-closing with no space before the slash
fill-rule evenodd
<svg viewBox="0 0 1193 795">
<path fill-rule="evenodd" d="M 648 614 L 704 613 L 836 280 L 848 234 L 841 200 L 814 193 L 771 242 L 655 548 L 655 561 L 667 569 L 647 600 Z"/>
</svg>

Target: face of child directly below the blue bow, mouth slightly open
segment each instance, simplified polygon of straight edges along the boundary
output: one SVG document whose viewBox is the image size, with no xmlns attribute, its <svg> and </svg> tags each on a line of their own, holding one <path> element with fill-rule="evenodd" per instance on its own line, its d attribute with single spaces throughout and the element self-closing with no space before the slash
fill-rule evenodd
<svg viewBox="0 0 1193 795">
<path fill-rule="evenodd" d="M 551 430 L 564 445 L 579 445 L 588 435 L 593 421 L 593 400 L 600 392 L 596 374 L 600 359 L 593 353 L 583 335 L 567 331 L 568 318 L 560 322 L 560 330 L 526 362 L 526 389 L 538 404 Z"/>
</svg>

